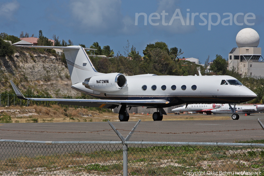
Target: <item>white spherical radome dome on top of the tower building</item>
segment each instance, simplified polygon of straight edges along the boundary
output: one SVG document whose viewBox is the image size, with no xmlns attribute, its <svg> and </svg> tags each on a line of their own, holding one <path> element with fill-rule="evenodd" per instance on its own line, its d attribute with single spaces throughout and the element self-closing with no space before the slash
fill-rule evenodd
<svg viewBox="0 0 264 176">
<path fill-rule="evenodd" d="M 237 33 L 236 44 L 238 47 L 258 47 L 259 35 L 254 29 L 244 28 Z"/>
</svg>

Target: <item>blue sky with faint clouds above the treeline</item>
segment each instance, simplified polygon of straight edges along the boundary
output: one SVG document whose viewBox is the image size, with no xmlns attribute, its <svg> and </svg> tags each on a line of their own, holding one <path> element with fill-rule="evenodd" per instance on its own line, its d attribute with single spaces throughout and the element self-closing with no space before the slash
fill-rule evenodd
<svg viewBox="0 0 264 176">
<path fill-rule="evenodd" d="M 243 28 L 257 31 L 258 47 L 263 48 L 263 6 L 263 0 L 0 0 L 0 33 L 19 37 L 23 31 L 38 36 L 42 30 L 50 39 L 55 34 L 59 40 L 70 39 L 74 45 L 86 47 L 98 42 L 121 54 L 129 40 L 130 48 L 133 45 L 141 55 L 147 44 L 163 41 L 169 48 L 181 48 L 181 57 L 199 58 L 204 64 L 208 55 L 210 60 L 216 54 L 227 58 L 231 49 L 237 47 L 236 35 Z M 138 16 L 135 25 L 136 13 L 146 14 L 147 25 L 144 15 Z M 193 20 L 192 13 L 198 14 Z M 252 13 L 255 19 L 250 19 Z M 230 14 L 232 19 L 223 25 L 222 20 Z M 215 25 L 209 25 L 209 21 Z"/>
</svg>

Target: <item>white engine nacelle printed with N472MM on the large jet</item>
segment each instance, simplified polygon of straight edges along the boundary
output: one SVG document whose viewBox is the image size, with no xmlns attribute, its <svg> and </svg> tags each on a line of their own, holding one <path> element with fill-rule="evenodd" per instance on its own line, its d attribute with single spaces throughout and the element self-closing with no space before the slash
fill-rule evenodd
<svg viewBox="0 0 264 176">
<path fill-rule="evenodd" d="M 114 92 L 126 87 L 126 76 L 121 73 L 107 73 L 87 78 L 82 82 L 88 89 Z"/>
</svg>

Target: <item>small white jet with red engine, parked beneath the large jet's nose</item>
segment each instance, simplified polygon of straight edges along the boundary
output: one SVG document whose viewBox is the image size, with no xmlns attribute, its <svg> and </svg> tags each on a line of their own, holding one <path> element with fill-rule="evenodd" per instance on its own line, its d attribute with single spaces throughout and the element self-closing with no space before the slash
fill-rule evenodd
<svg viewBox="0 0 264 176">
<path fill-rule="evenodd" d="M 220 108 L 222 104 L 188 104 L 182 105 L 181 107 L 172 109 L 172 111 L 178 112 L 178 115 L 180 112 L 188 112 L 188 111 L 195 111 L 195 112 L 205 112 L 207 115 L 211 115 L 212 109 Z"/>
</svg>

